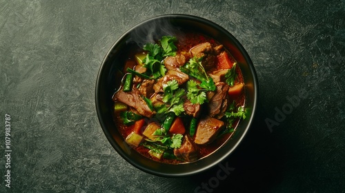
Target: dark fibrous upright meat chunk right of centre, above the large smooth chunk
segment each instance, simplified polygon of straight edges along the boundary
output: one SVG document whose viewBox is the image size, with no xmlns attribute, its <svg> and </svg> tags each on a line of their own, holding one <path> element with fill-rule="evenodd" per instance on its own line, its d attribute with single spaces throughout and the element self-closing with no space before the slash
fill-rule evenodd
<svg viewBox="0 0 345 193">
<path fill-rule="evenodd" d="M 229 90 L 229 85 L 224 82 L 215 83 L 217 90 L 215 94 L 208 102 L 208 114 L 212 117 L 220 119 L 224 116 L 224 112 L 228 106 L 227 94 Z"/>
</svg>

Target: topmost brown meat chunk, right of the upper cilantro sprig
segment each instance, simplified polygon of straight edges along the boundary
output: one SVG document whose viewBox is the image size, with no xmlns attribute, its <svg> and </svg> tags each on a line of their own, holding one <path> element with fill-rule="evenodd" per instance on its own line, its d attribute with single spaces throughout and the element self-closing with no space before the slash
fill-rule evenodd
<svg viewBox="0 0 345 193">
<path fill-rule="evenodd" d="M 190 49 L 190 54 L 198 59 L 202 57 L 202 65 L 206 70 L 215 67 L 217 52 L 209 42 L 200 43 Z"/>
</svg>

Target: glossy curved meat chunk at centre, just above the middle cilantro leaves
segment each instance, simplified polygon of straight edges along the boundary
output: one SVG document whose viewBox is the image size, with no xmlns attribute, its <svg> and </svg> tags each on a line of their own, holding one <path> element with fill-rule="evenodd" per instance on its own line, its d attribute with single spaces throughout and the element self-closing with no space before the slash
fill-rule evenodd
<svg viewBox="0 0 345 193">
<path fill-rule="evenodd" d="M 153 85 L 153 89 L 155 90 L 155 93 L 163 92 L 163 85 L 168 83 L 168 81 L 176 80 L 177 83 L 181 85 L 183 83 L 186 83 L 188 79 L 188 74 L 185 74 L 184 72 L 181 72 L 179 70 L 169 70 L 168 72 L 166 72 L 166 75 L 164 77 L 158 79 L 157 83 Z"/>
</svg>

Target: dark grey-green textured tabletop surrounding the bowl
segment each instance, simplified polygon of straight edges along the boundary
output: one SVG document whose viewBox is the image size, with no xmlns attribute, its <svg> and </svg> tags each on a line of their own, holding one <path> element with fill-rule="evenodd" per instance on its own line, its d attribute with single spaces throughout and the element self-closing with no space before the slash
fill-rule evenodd
<svg viewBox="0 0 345 193">
<path fill-rule="evenodd" d="M 169 13 L 226 28 L 259 79 L 243 143 L 182 179 L 124 161 L 95 111 L 97 72 L 112 43 Z M 0 0 L 0 192 L 344 192 L 344 62 L 344 0 Z"/>
</svg>

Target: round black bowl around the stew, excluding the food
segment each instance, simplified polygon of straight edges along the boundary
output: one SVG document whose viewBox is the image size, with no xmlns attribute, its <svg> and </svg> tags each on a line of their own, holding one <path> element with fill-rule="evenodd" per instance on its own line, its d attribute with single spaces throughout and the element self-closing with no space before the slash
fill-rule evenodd
<svg viewBox="0 0 345 193">
<path fill-rule="evenodd" d="M 212 154 L 193 163 L 177 165 L 159 163 L 148 159 L 130 148 L 117 130 L 112 119 L 112 94 L 117 90 L 116 83 L 121 77 L 116 76 L 117 69 L 122 69 L 130 50 L 142 48 L 148 41 L 159 39 L 167 34 L 183 34 L 184 30 L 193 30 L 212 37 L 223 44 L 239 63 L 246 84 L 246 109 L 248 116 L 242 120 L 236 134 Z M 208 170 L 226 159 L 244 139 L 250 128 L 257 106 L 258 83 L 253 63 L 242 45 L 221 26 L 200 17 L 184 14 L 168 14 L 154 17 L 139 23 L 122 35 L 110 48 L 99 69 L 96 83 L 96 108 L 101 128 L 112 147 L 126 161 L 135 167 L 158 176 L 189 176 Z"/>
</svg>

